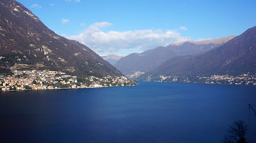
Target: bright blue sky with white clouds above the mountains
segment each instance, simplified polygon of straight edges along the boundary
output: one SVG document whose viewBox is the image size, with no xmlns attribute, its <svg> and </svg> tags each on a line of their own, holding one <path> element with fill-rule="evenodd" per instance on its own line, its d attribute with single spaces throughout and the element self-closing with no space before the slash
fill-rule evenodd
<svg viewBox="0 0 256 143">
<path fill-rule="evenodd" d="M 58 35 L 99 55 L 238 36 L 256 26 L 256 1 L 16 0 Z"/>
</svg>

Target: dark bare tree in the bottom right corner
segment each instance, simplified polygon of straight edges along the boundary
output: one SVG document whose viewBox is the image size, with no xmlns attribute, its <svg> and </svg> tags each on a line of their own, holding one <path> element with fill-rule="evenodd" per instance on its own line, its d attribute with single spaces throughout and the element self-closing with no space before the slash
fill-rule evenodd
<svg viewBox="0 0 256 143">
<path fill-rule="evenodd" d="M 227 130 L 228 136 L 224 136 L 222 142 L 225 143 L 246 143 L 245 133 L 247 132 L 247 125 L 244 121 L 238 120 L 230 126 Z"/>
</svg>

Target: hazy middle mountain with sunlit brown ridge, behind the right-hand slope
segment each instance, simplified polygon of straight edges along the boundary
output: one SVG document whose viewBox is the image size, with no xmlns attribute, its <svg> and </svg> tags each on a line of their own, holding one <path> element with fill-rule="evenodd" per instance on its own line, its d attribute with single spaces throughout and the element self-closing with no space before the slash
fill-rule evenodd
<svg viewBox="0 0 256 143">
<path fill-rule="evenodd" d="M 235 36 L 228 36 L 226 38 L 207 41 L 171 43 L 168 46 L 159 46 L 142 52 L 141 54 L 129 54 L 121 58 L 114 66 L 124 74 L 131 74 L 138 70 L 146 72 L 155 69 L 171 57 L 205 52 L 230 41 L 230 39 L 234 37 Z"/>
</svg>

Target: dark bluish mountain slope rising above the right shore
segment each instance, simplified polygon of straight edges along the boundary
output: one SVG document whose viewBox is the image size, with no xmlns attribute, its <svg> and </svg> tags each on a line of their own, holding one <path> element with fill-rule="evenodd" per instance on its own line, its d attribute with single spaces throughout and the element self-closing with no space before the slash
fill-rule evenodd
<svg viewBox="0 0 256 143">
<path fill-rule="evenodd" d="M 164 76 L 211 76 L 256 74 L 256 26 L 203 54 L 170 58 L 144 74 Z"/>
</svg>

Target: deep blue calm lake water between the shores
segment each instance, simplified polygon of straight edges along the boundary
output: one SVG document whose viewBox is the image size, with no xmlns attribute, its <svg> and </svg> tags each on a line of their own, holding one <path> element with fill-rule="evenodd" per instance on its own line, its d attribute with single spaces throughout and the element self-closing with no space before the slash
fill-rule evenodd
<svg viewBox="0 0 256 143">
<path fill-rule="evenodd" d="M 256 86 L 159 82 L 0 92 L 0 142 L 221 142 L 233 122 L 248 124 L 255 93 Z"/>
</svg>

